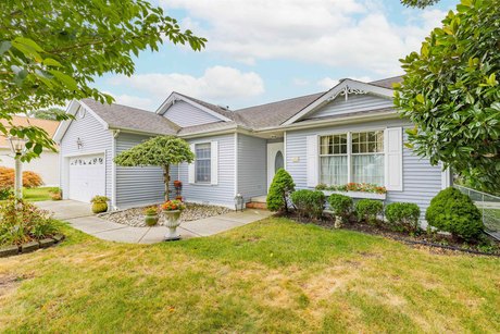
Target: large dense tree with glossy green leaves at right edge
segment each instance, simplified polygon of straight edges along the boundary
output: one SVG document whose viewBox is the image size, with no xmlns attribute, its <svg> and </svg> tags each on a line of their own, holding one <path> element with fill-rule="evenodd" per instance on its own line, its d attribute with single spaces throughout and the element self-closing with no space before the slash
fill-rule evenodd
<svg viewBox="0 0 500 334">
<path fill-rule="evenodd" d="M 485 190 L 500 181 L 500 5 L 462 0 L 420 52 L 401 60 L 395 103 L 415 124 L 410 146 Z"/>
</svg>

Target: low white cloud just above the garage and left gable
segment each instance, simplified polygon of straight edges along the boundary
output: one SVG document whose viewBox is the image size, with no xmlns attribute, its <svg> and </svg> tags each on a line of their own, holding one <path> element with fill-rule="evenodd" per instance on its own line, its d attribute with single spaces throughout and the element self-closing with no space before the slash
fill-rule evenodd
<svg viewBox="0 0 500 334">
<path fill-rule="evenodd" d="M 209 67 L 199 77 L 180 73 L 149 73 L 130 77 L 116 76 L 109 82 L 114 86 L 124 86 L 148 94 L 157 101 L 165 99 L 172 91 L 214 103 L 228 103 L 264 92 L 264 83 L 259 74 L 226 66 Z M 130 96 L 120 96 L 120 98 L 123 101 L 129 99 L 134 103 L 146 103 L 147 100 L 151 100 Z"/>
</svg>

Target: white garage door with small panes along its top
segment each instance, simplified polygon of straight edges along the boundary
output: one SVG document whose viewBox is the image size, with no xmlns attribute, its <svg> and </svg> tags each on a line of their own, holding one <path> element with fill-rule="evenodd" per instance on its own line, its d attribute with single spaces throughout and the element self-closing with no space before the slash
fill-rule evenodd
<svg viewBox="0 0 500 334">
<path fill-rule="evenodd" d="M 105 195 L 105 161 L 103 154 L 70 159 L 70 199 L 90 202 L 96 195 Z"/>
</svg>

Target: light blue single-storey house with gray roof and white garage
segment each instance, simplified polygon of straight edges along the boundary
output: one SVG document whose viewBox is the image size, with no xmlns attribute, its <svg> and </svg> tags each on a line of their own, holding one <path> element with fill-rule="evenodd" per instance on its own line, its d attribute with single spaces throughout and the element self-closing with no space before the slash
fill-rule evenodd
<svg viewBox="0 0 500 334">
<path fill-rule="evenodd" d="M 235 194 L 246 201 L 266 195 L 279 168 L 297 188 L 318 183 L 375 183 L 388 189 L 387 201 L 410 201 L 426 209 L 450 183 L 449 173 L 415 157 L 403 146 L 404 127 L 392 107 L 391 84 L 342 79 L 328 91 L 230 111 L 173 92 L 155 113 L 74 101 L 74 121 L 61 123 L 64 198 L 89 201 L 110 197 L 113 208 L 160 202 L 160 168 L 122 168 L 115 154 L 155 135 L 186 139 L 196 153 L 191 164 L 172 169 L 187 201 L 234 208 Z"/>
</svg>

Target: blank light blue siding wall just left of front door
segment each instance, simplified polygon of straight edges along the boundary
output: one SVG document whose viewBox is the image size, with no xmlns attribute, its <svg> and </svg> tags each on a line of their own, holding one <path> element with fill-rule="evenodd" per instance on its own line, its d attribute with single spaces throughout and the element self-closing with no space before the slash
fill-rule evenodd
<svg viewBox="0 0 500 334">
<path fill-rule="evenodd" d="M 238 134 L 238 193 L 246 201 L 267 194 L 265 139 Z"/>
</svg>

